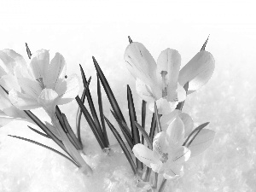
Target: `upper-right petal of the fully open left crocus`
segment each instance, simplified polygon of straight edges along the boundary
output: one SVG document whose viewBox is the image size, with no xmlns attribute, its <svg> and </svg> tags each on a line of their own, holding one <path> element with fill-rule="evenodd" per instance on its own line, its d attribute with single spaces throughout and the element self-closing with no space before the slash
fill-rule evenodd
<svg viewBox="0 0 256 192">
<path fill-rule="evenodd" d="M 55 53 L 55 57 L 50 61 L 49 69 L 44 82 L 46 87 L 55 90 L 58 79 L 64 79 L 66 74 L 66 61 L 60 53 Z"/>
</svg>

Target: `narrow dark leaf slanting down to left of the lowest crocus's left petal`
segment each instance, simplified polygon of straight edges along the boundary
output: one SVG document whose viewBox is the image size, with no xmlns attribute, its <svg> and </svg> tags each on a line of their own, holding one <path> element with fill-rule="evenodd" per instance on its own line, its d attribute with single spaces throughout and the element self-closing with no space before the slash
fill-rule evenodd
<svg viewBox="0 0 256 192">
<path fill-rule="evenodd" d="M 123 151 L 125 153 L 125 156 L 126 156 L 128 162 L 130 163 L 130 166 L 131 166 L 131 169 L 132 169 L 133 173 L 136 174 L 137 173 L 137 169 L 136 169 L 136 166 L 134 164 L 134 161 L 132 160 L 130 152 L 126 148 L 124 141 L 120 137 L 119 132 L 116 131 L 116 129 L 113 127 L 113 125 L 109 122 L 109 120 L 106 117 L 104 117 L 104 119 L 106 120 L 110 130 L 113 132 L 113 136 L 116 138 L 116 140 L 118 141 L 120 147 L 123 149 Z"/>
</svg>

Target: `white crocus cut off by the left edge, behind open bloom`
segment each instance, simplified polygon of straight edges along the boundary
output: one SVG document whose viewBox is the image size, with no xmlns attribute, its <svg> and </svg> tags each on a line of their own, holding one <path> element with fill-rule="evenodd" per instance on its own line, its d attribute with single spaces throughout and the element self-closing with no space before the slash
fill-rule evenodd
<svg viewBox="0 0 256 192">
<path fill-rule="evenodd" d="M 20 85 L 14 76 L 14 67 L 24 67 L 26 62 L 14 50 L 0 50 L 0 127 L 8 124 L 13 119 L 26 119 L 26 114 L 16 108 L 10 101 L 5 90 L 15 89 L 20 91 Z M 3 90 L 4 89 L 4 90 Z"/>
</svg>

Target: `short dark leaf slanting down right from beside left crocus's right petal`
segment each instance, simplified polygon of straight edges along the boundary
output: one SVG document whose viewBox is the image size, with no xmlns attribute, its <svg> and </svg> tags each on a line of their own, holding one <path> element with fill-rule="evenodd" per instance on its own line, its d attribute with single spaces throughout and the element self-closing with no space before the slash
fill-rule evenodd
<svg viewBox="0 0 256 192">
<path fill-rule="evenodd" d="M 88 124 L 90 125 L 90 129 L 93 132 L 93 134 L 95 135 L 97 142 L 99 143 L 99 145 L 101 146 L 102 149 L 105 148 L 103 139 L 100 136 L 100 134 L 98 133 L 98 131 L 96 129 L 96 125 L 95 125 L 93 119 L 90 117 L 90 113 L 85 108 L 85 106 L 84 106 L 83 102 L 81 101 L 81 99 L 79 98 L 79 96 L 76 96 L 76 101 L 78 102 L 79 107 L 81 108 L 81 111 L 84 113 L 84 117 L 87 120 Z"/>
</svg>

